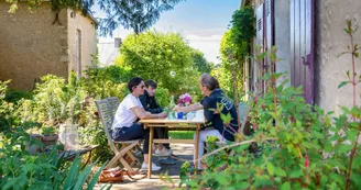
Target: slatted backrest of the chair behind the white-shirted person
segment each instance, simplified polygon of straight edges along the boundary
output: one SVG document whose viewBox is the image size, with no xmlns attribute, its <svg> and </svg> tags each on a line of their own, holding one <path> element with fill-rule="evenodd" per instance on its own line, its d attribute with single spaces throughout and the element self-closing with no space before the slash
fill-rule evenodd
<svg viewBox="0 0 361 190">
<path fill-rule="evenodd" d="M 117 97 L 110 97 L 96 101 L 98 113 L 102 123 L 102 127 L 108 138 L 108 143 L 111 149 L 117 153 L 114 142 L 111 137 L 110 130 L 114 120 L 117 109 L 119 107 L 119 99 Z"/>
</svg>

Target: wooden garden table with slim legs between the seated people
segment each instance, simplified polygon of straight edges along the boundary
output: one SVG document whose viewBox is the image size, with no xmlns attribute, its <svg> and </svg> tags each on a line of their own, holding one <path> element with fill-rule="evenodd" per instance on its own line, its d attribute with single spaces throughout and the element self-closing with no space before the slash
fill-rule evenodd
<svg viewBox="0 0 361 190">
<path fill-rule="evenodd" d="M 168 119 L 145 119 L 140 120 L 144 124 L 144 128 L 150 128 L 150 154 L 147 160 L 147 178 L 152 177 L 152 149 L 153 143 L 173 143 L 173 144 L 194 144 L 195 145 L 195 168 L 198 168 L 198 139 L 200 125 L 205 123 L 201 111 L 198 111 L 192 120 L 168 120 Z M 154 138 L 154 127 L 167 127 L 169 131 L 196 131 L 194 139 L 167 139 Z"/>
</svg>

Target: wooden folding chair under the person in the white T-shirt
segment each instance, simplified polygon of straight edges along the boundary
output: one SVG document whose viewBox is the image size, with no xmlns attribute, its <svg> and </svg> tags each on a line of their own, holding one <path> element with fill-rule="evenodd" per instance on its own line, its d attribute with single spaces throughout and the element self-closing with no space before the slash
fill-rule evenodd
<svg viewBox="0 0 361 190">
<path fill-rule="evenodd" d="M 140 164 L 140 160 L 133 155 L 131 149 L 136 147 L 141 139 L 133 139 L 133 141 L 127 141 L 127 142 L 116 142 L 112 139 L 110 130 L 114 120 L 114 115 L 117 113 L 117 109 L 119 107 L 119 99 L 117 97 L 110 97 L 107 99 L 98 100 L 96 101 L 96 105 L 98 109 L 99 116 L 101 119 L 101 123 L 105 130 L 105 133 L 108 138 L 108 144 L 116 154 L 116 156 L 108 163 L 106 168 L 112 168 L 117 165 L 119 161 L 125 169 L 128 169 L 131 172 L 134 172 L 131 165 L 133 164 Z M 116 144 L 121 144 L 121 148 L 118 149 Z M 129 156 L 131 159 L 131 165 L 124 159 L 124 156 Z"/>
</svg>

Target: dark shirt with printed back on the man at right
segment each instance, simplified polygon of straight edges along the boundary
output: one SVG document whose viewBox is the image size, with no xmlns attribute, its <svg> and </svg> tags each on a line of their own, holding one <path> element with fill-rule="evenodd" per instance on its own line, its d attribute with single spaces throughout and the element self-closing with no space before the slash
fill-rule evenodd
<svg viewBox="0 0 361 190">
<path fill-rule="evenodd" d="M 212 126 L 219 131 L 220 134 L 225 136 L 228 141 L 234 141 L 233 130 L 238 131 L 238 118 L 237 118 L 237 110 L 234 103 L 225 96 L 221 89 L 215 89 L 209 97 L 204 98 L 200 103 L 204 105 L 205 118 L 207 120 L 207 126 Z M 221 113 L 227 115 L 231 115 L 230 127 L 227 127 L 223 124 L 223 121 L 220 118 L 220 114 L 215 114 L 214 109 L 217 108 L 218 104 L 223 104 L 223 109 Z"/>
</svg>

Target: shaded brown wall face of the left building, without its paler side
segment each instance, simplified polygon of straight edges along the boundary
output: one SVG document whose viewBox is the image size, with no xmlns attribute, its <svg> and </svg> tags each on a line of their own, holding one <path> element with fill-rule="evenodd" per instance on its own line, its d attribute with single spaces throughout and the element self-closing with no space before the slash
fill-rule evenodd
<svg viewBox="0 0 361 190">
<path fill-rule="evenodd" d="M 0 80 L 11 79 L 11 88 L 30 90 L 46 74 L 67 77 L 67 11 L 59 12 L 59 24 L 47 2 L 33 12 L 19 2 L 17 13 L 0 1 Z"/>
</svg>

